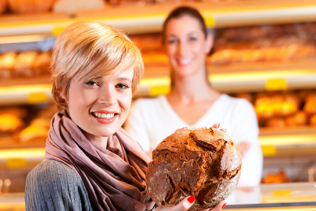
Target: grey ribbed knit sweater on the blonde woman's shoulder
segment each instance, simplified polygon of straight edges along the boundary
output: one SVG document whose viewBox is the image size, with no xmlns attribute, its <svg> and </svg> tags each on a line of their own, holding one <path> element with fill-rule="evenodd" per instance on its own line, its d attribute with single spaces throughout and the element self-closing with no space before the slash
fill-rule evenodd
<svg viewBox="0 0 316 211">
<path fill-rule="evenodd" d="M 69 166 L 47 160 L 28 174 L 25 188 L 25 210 L 93 210 L 87 190 Z"/>
</svg>

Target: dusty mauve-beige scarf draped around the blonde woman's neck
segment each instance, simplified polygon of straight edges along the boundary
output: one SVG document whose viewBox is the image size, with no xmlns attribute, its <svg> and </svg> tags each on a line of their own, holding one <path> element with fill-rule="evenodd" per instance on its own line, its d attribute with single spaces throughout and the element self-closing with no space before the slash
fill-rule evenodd
<svg viewBox="0 0 316 211">
<path fill-rule="evenodd" d="M 150 159 L 122 128 L 108 138 L 106 149 L 89 141 L 70 118 L 55 114 L 45 158 L 61 161 L 77 172 L 98 210 L 143 211 L 154 206 L 145 184 Z"/>
</svg>

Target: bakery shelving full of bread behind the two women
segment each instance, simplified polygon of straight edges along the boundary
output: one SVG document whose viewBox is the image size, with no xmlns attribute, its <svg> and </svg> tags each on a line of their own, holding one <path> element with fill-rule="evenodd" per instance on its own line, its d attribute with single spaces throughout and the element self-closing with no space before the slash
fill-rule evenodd
<svg viewBox="0 0 316 211">
<path fill-rule="evenodd" d="M 141 48 L 145 63 L 135 98 L 169 92 L 169 64 L 159 32 L 166 15 L 183 3 L 129 3 L 123 7 L 122 2 L 108 2 L 103 9 L 72 15 L 0 15 L 0 185 L 6 179 L 11 181 L 9 185 L 6 180 L 4 191 L 1 185 L 0 210 L 12 204 L 16 210 L 24 209 L 23 194 L 19 193 L 24 191 L 23 181 L 44 156 L 48 121 L 56 109 L 47 68 L 56 35 L 65 26 L 91 20 L 129 33 Z M 249 100 L 260 124 L 265 184 L 241 190 L 231 199 L 235 204 L 226 208 L 314 210 L 315 1 L 205 0 L 185 4 L 201 11 L 216 37 L 207 59 L 212 86 Z"/>
</svg>

